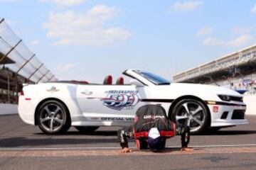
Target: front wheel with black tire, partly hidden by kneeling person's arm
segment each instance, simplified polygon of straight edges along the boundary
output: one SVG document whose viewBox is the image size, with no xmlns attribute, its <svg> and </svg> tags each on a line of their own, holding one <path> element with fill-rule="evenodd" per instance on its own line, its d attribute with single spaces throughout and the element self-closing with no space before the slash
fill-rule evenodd
<svg viewBox="0 0 256 170">
<path fill-rule="evenodd" d="M 188 108 L 188 115 L 186 115 L 187 109 L 185 106 Z M 193 115 L 193 111 L 196 112 L 197 107 L 200 111 Z M 176 103 L 171 112 L 171 120 L 176 124 L 184 123 L 185 119 L 176 120 L 178 116 L 180 116 L 179 118 L 188 117 L 188 120 L 191 123 L 191 133 L 193 134 L 203 132 L 210 124 L 210 115 L 206 106 L 201 101 L 195 99 L 183 99 Z"/>
</svg>

